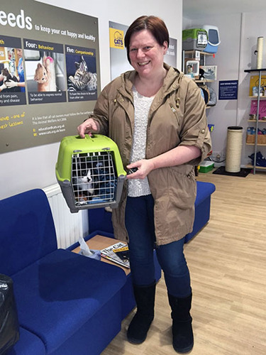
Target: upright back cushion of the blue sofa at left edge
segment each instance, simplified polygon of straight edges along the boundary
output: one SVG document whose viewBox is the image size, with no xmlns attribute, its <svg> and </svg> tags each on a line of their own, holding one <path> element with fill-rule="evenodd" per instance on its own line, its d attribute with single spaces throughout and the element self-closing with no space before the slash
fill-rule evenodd
<svg viewBox="0 0 266 355">
<path fill-rule="evenodd" d="M 0 201 L 0 273 L 13 275 L 57 249 L 48 199 L 35 189 Z"/>
</svg>

